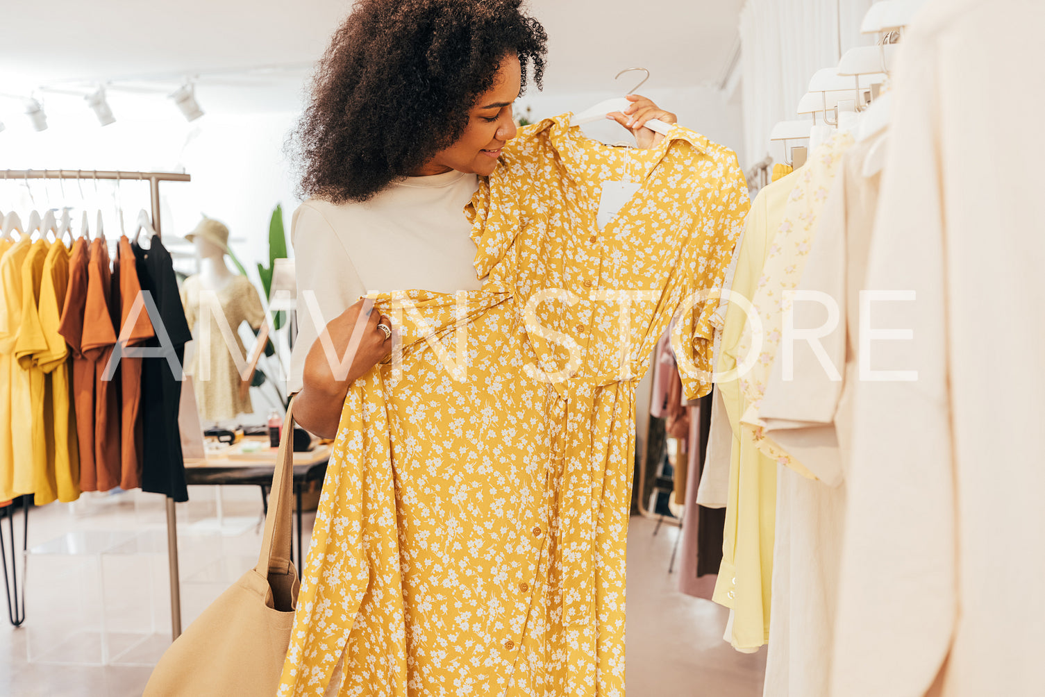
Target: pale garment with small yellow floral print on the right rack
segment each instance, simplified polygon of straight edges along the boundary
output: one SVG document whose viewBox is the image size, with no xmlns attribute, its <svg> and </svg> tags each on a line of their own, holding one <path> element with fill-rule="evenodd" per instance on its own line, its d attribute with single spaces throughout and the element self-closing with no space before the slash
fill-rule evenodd
<svg viewBox="0 0 1045 697">
<path fill-rule="evenodd" d="M 813 477 L 812 472 L 800 462 L 764 438 L 759 408 L 781 346 L 784 312 L 792 303 L 789 292 L 802 279 L 806 259 L 816 239 L 817 216 L 828 199 L 842 155 L 852 145 L 851 134 L 835 132 L 813 149 L 808 166 L 803 167 L 800 175 L 794 179 L 794 188 L 788 198 L 784 218 L 773 236 L 762 278 L 751 298 L 761 321 L 760 329 L 756 332 L 753 325 L 748 322 L 740 341 L 742 354 L 751 350 L 756 342 L 761 344 L 761 348 L 754 349 L 759 352 L 759 359 L 740 378 L 741 390 L 747 400 L 744 414 L 740 417 L 741 427 L 750 429 L 759 449 L 777 464 L 785 464 L 810 478 Z"/>
</svg>

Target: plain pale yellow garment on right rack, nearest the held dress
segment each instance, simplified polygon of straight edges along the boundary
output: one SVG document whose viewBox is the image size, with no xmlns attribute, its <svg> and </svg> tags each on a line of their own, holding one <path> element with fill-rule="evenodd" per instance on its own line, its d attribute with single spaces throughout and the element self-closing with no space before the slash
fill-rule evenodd
<svg viewBox="0 0 1045 697">
<path fill-rule="evenodd" d="M 776 469 L 756 446 L 740 417 L 747 404 L 738 373 L 750 361 L 738 350 L 746 315 L 743 301 L 754 296 L 770 242 L 784 215 L 784 207 L 797 175 L 764 187 L 754 198 L 744 224 L 729 304 L 725 312 L 716 372 L 716 392 L 732 427 L 728 450 L 728 487 L 722 535 L 722 564 L 713 600 L 733 608 L 729 640 L 741 650 L 765 644 L 769 628 L 769 581 L 773 552 L 773 511 Z M 730 374 L 732 373 L 732 374 Z M 722 379 L 732 378 L 732 379 Z"/>
</svg>

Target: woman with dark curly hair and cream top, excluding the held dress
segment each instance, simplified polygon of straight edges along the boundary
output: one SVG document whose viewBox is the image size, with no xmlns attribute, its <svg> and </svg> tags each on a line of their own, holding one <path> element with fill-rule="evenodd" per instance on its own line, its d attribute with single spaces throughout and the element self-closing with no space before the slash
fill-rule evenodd
<svg viewBox="0 0 1045 697">
<path fill-rule="evenodd" d="M 463 209 L 515 137 L 512 104 L 530 70 L 541 85 L 547 36 L 520 0 L 369 0 L 334 33 L 301 121 L 302 193 L 293 243 L 301 310 L 291 392 L 298 421 L 332 438 L 353 379 L 392 342 L 366 316 L 368 291 L 474 289 Z M 675 115 L 631 95 L 610 117 L 643 147 L 644 124 Z M 352 329 L 366 324 L 355 346 Z M 326 326 L 329 351 L 316 341 Z M 351 356 L 347 372 L 338 370 Z"/>
</svg>

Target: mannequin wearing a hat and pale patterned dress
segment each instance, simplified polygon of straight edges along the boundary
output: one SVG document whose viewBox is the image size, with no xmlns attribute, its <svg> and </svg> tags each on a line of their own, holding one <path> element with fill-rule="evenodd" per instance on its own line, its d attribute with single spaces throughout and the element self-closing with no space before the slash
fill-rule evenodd
<svg viewBox="0 0 1045 697">
<path fill-rule="evenodd" d="M 200 273 L 182 284 L 182 305 L 195 338 L 195 351 L 187 361 L 186 372 L 193 378 L 200 417 L 216 422 L 252 414 L 250 394 L 239 396 L 237 363 L 246 363 L 247 350 L 238 329 L 243 322 L 255 331 L 260 328 L 264 322 L 261 299 L 246 276 L 230 271 L 225 263 L 229 239 L 225 225 L 204 217 L 185 238 L 195 247 L 200 259 Z M 223 333 L 226 322 L 231 335 Z"/>
</svg>

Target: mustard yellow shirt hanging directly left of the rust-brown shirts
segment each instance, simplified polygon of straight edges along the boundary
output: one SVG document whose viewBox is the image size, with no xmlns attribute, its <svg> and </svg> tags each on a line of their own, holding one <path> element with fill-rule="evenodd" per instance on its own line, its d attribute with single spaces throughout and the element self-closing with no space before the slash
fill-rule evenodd
<svg viewBox="0 0 1045 697">
<path fill-rule="evenodd" d="M 76 414 L 72 405 L 72 354 L 59 333 L 62 307 L 69 285 L 69 248 L 64 242 L 51 245 L 44 260 L 40 286 L 39 316 L 47 348 L 34 355 L 37 366 L 44 371 L 48 395 L 45 433 L 48 448 L 47 468 L 38 480 L 37 503 L 47 491 L 61 502 L 79 497 L 79 446 L 76 440 Z M 46 502 L 45 502 L 46 503 Z"/>
</svg>

